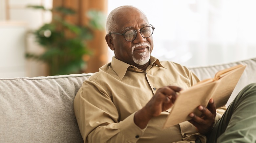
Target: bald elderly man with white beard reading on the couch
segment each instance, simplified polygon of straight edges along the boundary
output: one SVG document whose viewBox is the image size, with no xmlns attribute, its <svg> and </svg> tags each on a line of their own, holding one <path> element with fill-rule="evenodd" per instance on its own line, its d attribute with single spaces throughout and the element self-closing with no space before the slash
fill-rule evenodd
<svg viewBox="0 0 256 143">
<path fill-rule="evenodd" d="M 244 141 L 245 135 L 240 132 L 246 130 L 233 128 L 235 123 L 236 126 L 243 124 L 238 123 L 238 119 L 251 124 L 243 126 L 250 130 L 247 135 L 255 141 L 255 117 L 247 119 L 248 114 L 236 113 L 238 101 L 245 100 L 244 97 L 255 103 L 255 85 L 247 87 L 253 96 L 241 93 L 228 113 L 226 106 L 216 110 L 211 99 L 207 108 L 198 107 L 202 117 L 191 113 L 191 120 L 162 128 L 177 92 L 193 86 L 199 79 L 184 66 L 150 56 L 154 29 L 146 15 L 133 6 L 118 7 L 109 14 L 106 42 L 115 56 L 111 63 L 84 81 L 74 100 L 75 116 L 84 142 L 171 143 L 206 142 L 206 139 L 216 142 L 217 138 L 224 142 L 234 140 L 234 136 Z M 255 110 L 256 104 L 251 103 L 248 108 Z M 222 119 L 224 112 L 226 116 Z M 232 114 L 240 118 L 232 121 Z"/>
</svg>

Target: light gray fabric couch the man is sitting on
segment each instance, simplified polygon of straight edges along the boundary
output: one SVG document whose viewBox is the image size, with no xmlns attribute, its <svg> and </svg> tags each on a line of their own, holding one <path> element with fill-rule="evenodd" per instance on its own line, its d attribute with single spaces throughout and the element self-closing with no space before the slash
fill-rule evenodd
<svg viewBox="0 0 256 143">
<path fill-rule="evenodd" d="M 205 79 L 237 64 L 247 64 L 247 67 L 229 104 L 245 85 L 256 82 L 256 58 L 189 69 Z M 0 79 L 0 142 L 83 142 L 73 100 L 90 75 L 92 73 Z"/>
</svg>

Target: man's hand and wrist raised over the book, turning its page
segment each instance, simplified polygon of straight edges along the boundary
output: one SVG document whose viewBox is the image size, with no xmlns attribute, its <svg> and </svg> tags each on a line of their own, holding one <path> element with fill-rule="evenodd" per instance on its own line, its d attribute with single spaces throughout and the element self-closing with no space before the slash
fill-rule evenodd
<svg viewBox="0 0 256 143">
<path fill-rule="evenodd" d="M 181 88 L 176 86 L 166 86 L 159 88 L 151 100 L 134 115 L 134 122 L 141 129 L 147 126 L 148 121 L 159 116 L 162 111 L 169 109 L 177 98 L 177 92 Z"/>
</svg>

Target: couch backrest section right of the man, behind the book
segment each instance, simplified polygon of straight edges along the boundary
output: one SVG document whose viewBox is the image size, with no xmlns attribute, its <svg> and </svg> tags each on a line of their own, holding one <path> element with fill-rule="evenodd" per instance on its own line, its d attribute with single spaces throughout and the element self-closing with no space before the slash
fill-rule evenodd
<svg viewBox="0 0 256 143">
<path fill-rule="evenodd" d="M 245 87 L 246 85 L 256 82 L 256 58 L 247 59 L 243 61 L 237 62 L 230 62 L 225 64 L 217 64 L 217 65 L 210 65 L 210 66 L 203 66 L 203 67 L 188 67 L 192 72 L 194 72 L 200 80 L 213 78 L 217 71 L 235 66 L 237 64 L 247 65 L 245 68 L 244 73 L 242 74 L 240 80 L 237 83 L 231 97 L 229 98 L 227 105 L 229 105 L 239 91 Z"/>
</svg>

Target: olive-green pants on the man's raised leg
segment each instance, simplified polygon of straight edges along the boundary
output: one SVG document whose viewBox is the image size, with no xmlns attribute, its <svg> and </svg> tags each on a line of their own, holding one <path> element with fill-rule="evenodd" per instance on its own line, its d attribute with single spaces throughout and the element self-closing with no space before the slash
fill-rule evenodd
<svg viewBox="0 0 256 143">
<path fill-rule="evenodd" d="M 256 83 L 243 88 L 207 135 L 207 143 L 256 142 Z"/>
</svg>

